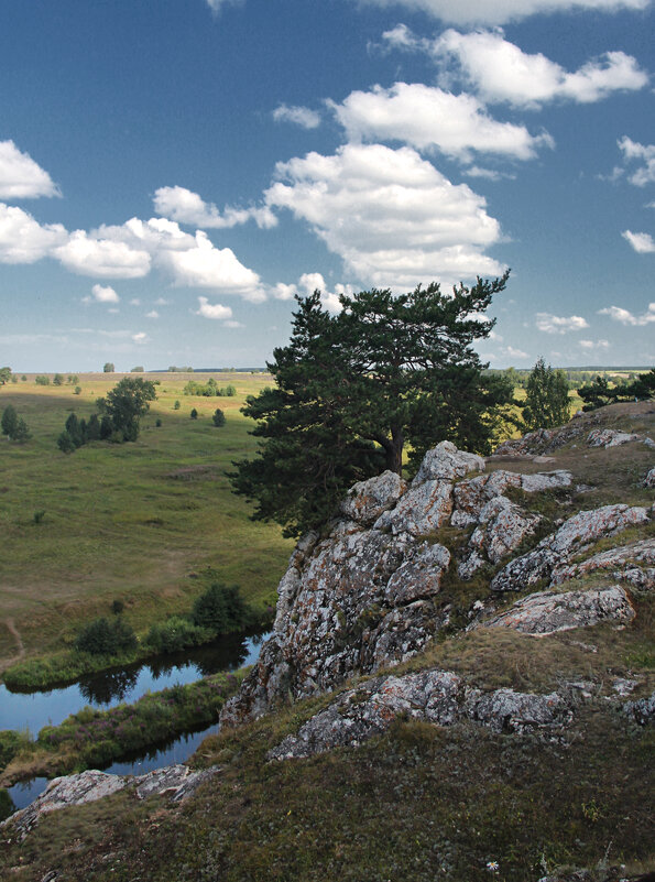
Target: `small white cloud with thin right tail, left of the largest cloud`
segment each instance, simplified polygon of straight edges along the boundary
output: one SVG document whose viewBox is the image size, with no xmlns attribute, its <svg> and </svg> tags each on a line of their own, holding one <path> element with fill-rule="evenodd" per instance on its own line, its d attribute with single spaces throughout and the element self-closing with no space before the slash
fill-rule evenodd
<svg viewBox="0 0 655 882">
<path fill-rule="evenodd" d="M 153 203 L 157 214 L 194 227 L 230 229 L 247 224 L 251 218 L 261 229 L 270 229 L 277 225 L 277 218 L 265 206 L 259 208 L 226 206 L 221 214 L 216 205 L 204 202 L 197 193 L 186 187 L 160 187 L 155 190 Z"/>
</svg>

